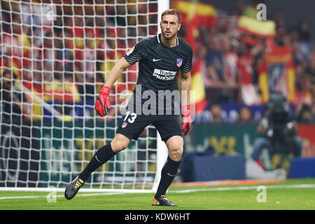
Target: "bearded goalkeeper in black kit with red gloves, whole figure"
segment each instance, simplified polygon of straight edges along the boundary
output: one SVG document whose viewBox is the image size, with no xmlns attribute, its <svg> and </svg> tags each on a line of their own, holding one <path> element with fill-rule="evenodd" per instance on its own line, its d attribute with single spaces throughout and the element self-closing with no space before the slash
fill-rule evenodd
<svg viewBox="0 0 315 224">
<path fill-rule="evenodd" d="M 176 10 L 169 9 L 162 13 L 161 19 L 160 28 L 162 34 L 148 36 L 134 45 L 134 48 L 127 52 L 111 69 L 95 103 L 95 110 L 99 113 L 99 116 L 106 116 L 107 110 L 111 109 L 109 94 L 113 83 L 116 82 L 125 69 L 136 62 L 139 62 L 137 87 L 141 86 L 141 90 L 137 90 L 138 88 L 136 88 L 132 97 L 137 98 L 140 94 L 142 96 L 145 90 L 155 92 L 156 94 L 158 94 L 159 90 L 173 92 L 176 90 L 176 74 L 179 70 L 181 70 L 181 90 L 190 90 L 190 70 L 192 69 L 193 50 L 188 43 L 177 38 L 177 32 L 181 29 L 181 16 Z M 143 98 L 140 97 L 140 103 L 137 103 L 136 100 L 136 103 L 132 105 L 135 106 L 136 110 L 130 109 L 131 105 L 128 105 L 127 113 L 116 131 L 115 137 L 110 144 L 99 148 L 83 172 L 69 183 L 64 192 L 66 199 L 71 200 L 92 172 L 99 166 L 104 165 L 114 155 L 127 148 L 132 139 L 137 140 L 144 128 L 153 124 L 160 133 L 162 141 L 165 141 L 169 156 L 162 168 L 160 183 L 153 197 L 152 205 L 176 206 L 176 204 L 167 200 L 165 193 L 179 169 L 183 154 L 183 134 L 188 134 L 192 127 L 189 94 L 181 97 L 181 114 L 172 113 L 171 115 L 168 113 L 161 115 L 160 104 L 157 106 L 159 113 L 149 115 L 138 113 L 137 108 L 144 106 Z M 156 99 L 154 99 L 155 102 L 157 101 Z M 179 99 L 177 101 L 176 99 L 172 100 L 173 112 L 176 108 L 179 108 Z M 178 105 L 177 107 L 176 104 Z M 162 106 L 164 107 L 163 111 L 169 109 L 167 106 L 164 106 L 164 101 Z"/>
</svg>

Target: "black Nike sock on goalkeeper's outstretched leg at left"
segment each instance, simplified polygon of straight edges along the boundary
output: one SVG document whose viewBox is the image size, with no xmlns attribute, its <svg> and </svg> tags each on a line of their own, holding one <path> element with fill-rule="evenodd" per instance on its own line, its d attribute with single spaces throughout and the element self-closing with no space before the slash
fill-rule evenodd
<svg viewBox="0 0 315 224">
<path fill-rule="evenodd" d="M 89 178 L 90 174 L 92 174 L 92 172 L 94 172 L 100 166 L 104 165 L 104 163 L 109 161 L 114 155 L 116 155 L 116 153 L 113 152 L 111 144 L 107 144 L 106 146 L 99 148 L 99 150 L 90 160 L 87 167 L 85 167 L 85 169 L 83 169 L 83 172 L 79 174 L 79 179 L 86 181 Z"/>
</svg>

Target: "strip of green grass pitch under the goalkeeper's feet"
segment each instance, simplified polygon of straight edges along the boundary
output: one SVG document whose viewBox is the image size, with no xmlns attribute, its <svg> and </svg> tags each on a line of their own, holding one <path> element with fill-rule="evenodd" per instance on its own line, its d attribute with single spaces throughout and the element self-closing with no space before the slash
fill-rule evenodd
<svg viewBox="0 0 315 224">
<path fill-rule="evenodd" d="M 257 186 L 266 187 L 266 202 L 257 201 L 262 198 Z M 0 191 L 0 210 L 314 210 L 315 179 L 246 186 L 171 187 L 167 197 L 179 207 L 151 206 L 152 193 L 78 193 L 73 200 L 57 193 L 55 202 L 48 202 L 46 195 Z"/>
</svg>

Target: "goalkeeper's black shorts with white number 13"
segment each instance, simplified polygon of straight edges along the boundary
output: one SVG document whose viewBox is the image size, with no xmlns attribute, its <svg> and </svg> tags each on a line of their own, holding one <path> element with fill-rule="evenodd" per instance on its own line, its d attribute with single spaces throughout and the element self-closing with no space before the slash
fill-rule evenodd
<svg viewBox="0 0 315 224">
<path fill-rule="evenodd" d="M 170 137 L 181 136 L 182 118 L 179 115 L 136 115 L 127 112 L 123 116 L 123 121 L 118 126 L 116 134 L 123 134 L 128 139 L 137 140 L 140 134 L 148 125 L 153 125 L 160 133 L 162 141 L 167 141 Z"/>
</svg>

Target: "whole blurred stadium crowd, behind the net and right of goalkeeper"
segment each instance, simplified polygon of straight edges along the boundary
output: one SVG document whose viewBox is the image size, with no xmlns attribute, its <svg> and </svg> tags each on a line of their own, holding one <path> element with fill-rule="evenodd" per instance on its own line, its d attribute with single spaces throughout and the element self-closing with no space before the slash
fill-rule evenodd
<svg viewBox="0 0 315 224">
<path fill-rule="evenodd" d="M 31 92 L 24 97 L 3 94 L 1 100 L 27 102 L 26 106 L 20 106 L 24 118 L 30 118 L 30 114 L 33 119 L 44 116 L 41 100 L 55 104 L 55 109 L 65 116 L 71 113 L 86 116 L 86 109 L 93 113 L 94 95 L 114 62 L 140 38 L 157 32 L 156 3 L 137 4 L 137 7 L 130 3 L 125 7 L 113 4 L 125 1 L 106 1 L 106 6 L 102 7 L 104 1 L 96 0 L 91 1 L 96 5 L 88 7 L 89 2 L 85 1 L 84 6 L 76 6 L 74 10 L 58 6 L 57 18 L 50 20 L 41 18 L 39 15 L 43 12 L 38 12 L 41 8 L 30 2 L 36 1 L 1 1 L 1 73 L 11 71 L 17 77 L 15 80 L 22 81 Z M 288 96 L 298 122 L 314 123 L 315 52 L 309 21 L 300 20 L 295 27 L 287 27 L 283 14 L 277 12 L 270 17 L 276 25 L 273 38 L 244 36 L 237 24 L 238 18 L 255 18 L 256 13 L 255 4 L 238 1 L 230 12 L 216 9 L 216 20 L 211 28 L 197 27 L 194 61 L 202 62 L 207 101 L 203 110 L 210 111 L 211 122 L 224 122 L 221 104 L 241 104 L 238 120 L 253 121 L 251 106 L 267 103 L 261 77 L 265 58 L 270 56 L 268 50 L 275 46 L 284 49 L 281 56 L 288 55 L 290 62 L 288 67 L 284 64 L 284 70 L 293 69 L 294 79 L 293 83 L 288 83 L 284 80 L 286 76 L 276 73 L 270 81 L 276 83 L 273 90 L 281 90 Z M 179 37 L 186 39 L 189 31 L 184 23 Z M 283 66 L 272 69 L 278 71 Z M 113 91 L 132 90 L 137 80 L 136 71 L 137 65 L 132 66 Z M 3 75 L 1 83 L 8 80 Z M 18 86 L 17 83 L 13 84 Z M 2 85 L 1 88 L 9 91 Z M 15 92 L 21 90 L 21 87 L 16 88 Z M 36 101 L 34 95 L 41 100 Z M 121 99 L 113 97 L 113 102 L 119 101 Z M 74 107 L 78 111 L 74 112 Z M 106 119 L 112 119 L 113 113 L 115 111 Z"/>
</svg>

